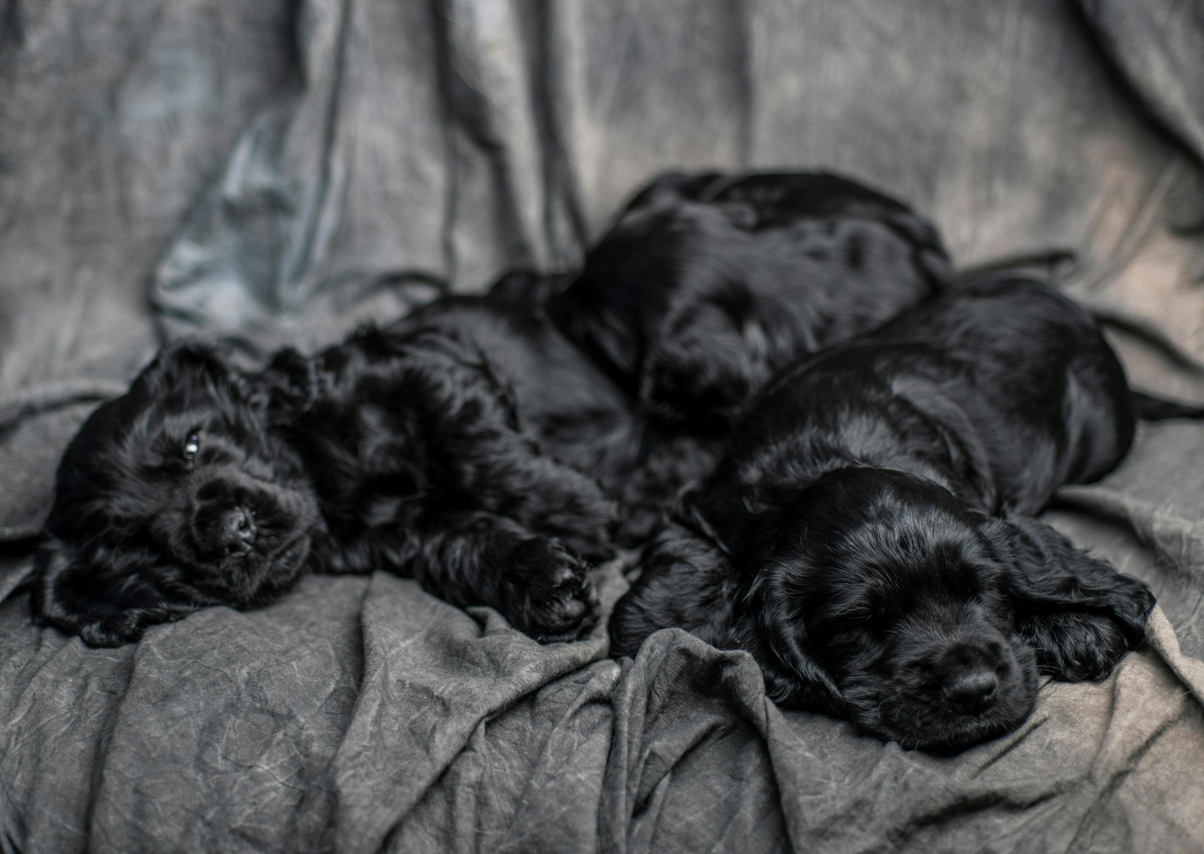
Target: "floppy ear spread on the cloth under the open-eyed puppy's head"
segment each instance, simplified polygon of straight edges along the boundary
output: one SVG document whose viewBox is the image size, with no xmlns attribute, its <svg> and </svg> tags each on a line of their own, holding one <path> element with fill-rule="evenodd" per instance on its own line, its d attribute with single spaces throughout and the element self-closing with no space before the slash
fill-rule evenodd
<svg viewBox="0 0 1204 854">
<path fill-rule="evenodd" d="M 159 570 L 159 581 L 169 571 Z M 70 544 L 49 536 L 34 561 L 30 602 L 42 622 L 79 635 L 93 647 L 136 641 L 154 623 L 179 619 L 195 606 L 169 601 L 153 576 L 126 559 L 122 566 L 89 565 Z"/>
</svg>

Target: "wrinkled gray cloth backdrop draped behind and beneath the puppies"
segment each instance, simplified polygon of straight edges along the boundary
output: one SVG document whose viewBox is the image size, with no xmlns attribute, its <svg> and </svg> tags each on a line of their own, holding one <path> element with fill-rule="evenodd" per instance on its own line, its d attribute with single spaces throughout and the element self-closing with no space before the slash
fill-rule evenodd
<svg viewBox="0 0 1204 854">
<path fill-rule="evenodd" d="M 1202 43 L 1174 0 L 0 0 L 0 852 L 1204 850 L 1197 423 L 1049 513 L 1151 583 L 1147 648 L 954 758 L 678 631 L 615 662 L 385 573 L 120 649 L 23 587 L 160 336 L 253 357 L 569 269 L 665 167 L 845 171 L 962 265 L 1073 251 L 1134 381 L 1204 400 Z"/>
</svg>

